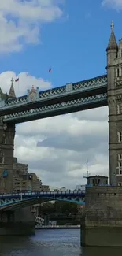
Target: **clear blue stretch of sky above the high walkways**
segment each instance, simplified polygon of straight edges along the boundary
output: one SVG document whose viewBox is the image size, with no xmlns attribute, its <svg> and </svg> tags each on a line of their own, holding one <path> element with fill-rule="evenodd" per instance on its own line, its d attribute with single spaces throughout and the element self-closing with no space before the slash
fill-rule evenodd
<svg viewBox="0 0 122 256">
<path fill-rule="evenodd" d="M 110 23 L 114 21 L 120 39 L 122 15 L 101 4 L 99 0 L 65 1 L 61 19 L 41 24 L 40 44 L 1 55 L 0 72 L 29 72 L 44 80 L 51 76 L 54 87 L 104 74 Z"/>
</svg>

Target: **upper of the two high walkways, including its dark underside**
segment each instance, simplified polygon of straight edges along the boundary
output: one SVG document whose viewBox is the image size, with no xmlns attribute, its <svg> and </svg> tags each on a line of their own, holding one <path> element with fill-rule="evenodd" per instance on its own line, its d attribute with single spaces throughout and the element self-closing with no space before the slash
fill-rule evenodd
<svg viewBox="0 0 122 256">
<path fill-rule="evenodd" d="M 107 76 L 97 76 L 90 80 L 68 83 L 62 87 L 40 91 L 38 97 L 33 100 L 30 100 L 28 95 L 7 99 L 6 102 L 1 102 L 0 104 L 0 116 L 105 92 L 107 92 Z"/>
</svg>

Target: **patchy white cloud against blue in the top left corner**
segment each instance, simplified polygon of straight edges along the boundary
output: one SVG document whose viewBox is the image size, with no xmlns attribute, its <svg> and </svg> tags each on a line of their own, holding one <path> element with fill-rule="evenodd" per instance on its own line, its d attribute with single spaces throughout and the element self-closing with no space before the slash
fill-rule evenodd
<svg viewBox="0 0 122 256">
<path fill-rule="evenodd" d="M 40 26 L 62 17 L 63 2 L 64 0 L 1 0 L 0 52 L 19 51 L 24 43 L 39 43 Z"/>
</svg>

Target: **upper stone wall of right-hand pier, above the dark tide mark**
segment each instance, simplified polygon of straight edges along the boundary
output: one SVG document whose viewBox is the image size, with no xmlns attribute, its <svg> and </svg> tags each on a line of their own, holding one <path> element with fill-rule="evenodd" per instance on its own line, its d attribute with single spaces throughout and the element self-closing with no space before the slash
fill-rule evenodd
<svg viewBox="0 0 122 256">
<path fill-rule="evenodd" d="M 122 187 L 87 187 L 85 226 L 122 227 Z"/>
</svg>

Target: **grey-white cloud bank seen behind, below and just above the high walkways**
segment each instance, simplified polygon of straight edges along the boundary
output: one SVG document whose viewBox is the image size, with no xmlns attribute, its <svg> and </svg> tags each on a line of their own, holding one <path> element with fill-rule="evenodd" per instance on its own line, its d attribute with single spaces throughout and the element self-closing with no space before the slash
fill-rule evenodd
<svg viewBox="0 0 122 256">
<path fill-rule="evenodd" d="M 3 91 L 9 90 L 14 72 L 0 75 Z M 21 73 L 21 92 L 32 84 L 50 87 L 43 79 Z M 72 187 L 83 184 L 88 158 L 89 172 L 109 175 L 108 165 L 108 109 L 91 109 L 59 117 L 17 124 L 15 156 L 27 163 L 29 171 L 37 173 L 44 184 Z M 37 147 L 37 142 L 41 147 Z"/>
</svg>

